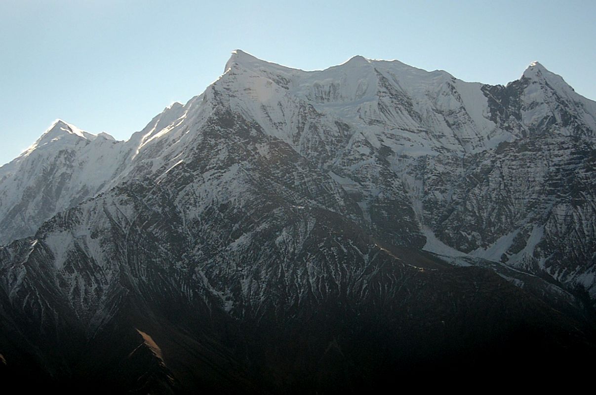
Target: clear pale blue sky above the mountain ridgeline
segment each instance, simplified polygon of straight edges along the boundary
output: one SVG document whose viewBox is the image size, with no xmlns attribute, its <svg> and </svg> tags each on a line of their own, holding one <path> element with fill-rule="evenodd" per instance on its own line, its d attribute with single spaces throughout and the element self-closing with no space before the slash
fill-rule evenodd
<svg viewBox="0 0 596 395">
<path fill-rule="evenodd" d="M 596 2 L 0 0 L 0 164 L 56 118 L 128 139 L 230 52 L 305 70 L 353 55 L 505 84 L 534 60 L 596 99 Z"/>
</svg>

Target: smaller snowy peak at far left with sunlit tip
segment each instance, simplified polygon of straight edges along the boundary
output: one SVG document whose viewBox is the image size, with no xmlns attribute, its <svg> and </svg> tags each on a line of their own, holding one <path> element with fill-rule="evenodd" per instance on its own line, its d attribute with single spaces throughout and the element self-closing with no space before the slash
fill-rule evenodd
<svg viewBox="0 0 596 395">
<path fill-rule="evenodd" d="M 32 235 L 55 213 L 93 197 L 122 170 L 123 142 L 56 120 L 0 167 L 0 243 Z"/>
</svg>

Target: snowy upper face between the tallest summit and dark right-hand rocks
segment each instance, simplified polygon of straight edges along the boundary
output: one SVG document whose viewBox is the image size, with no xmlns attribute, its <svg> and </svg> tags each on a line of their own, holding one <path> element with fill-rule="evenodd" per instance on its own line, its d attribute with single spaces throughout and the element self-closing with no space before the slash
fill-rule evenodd
<svg viewBox="0 0 596 395">
<path fill-rule="evenodd" d="M 232 110 L 250 114 L 266 133 L 289 142 L 301 154 L 318 155 L 306 144 L 332 138 L 329 133 L 337 129 L 336 122 L 348 123 L 375 148 L 387 145 L 409 155 L 445 150 L 463 154 L 510 138 L 488 119 L 482 84 L 463 82 L 445 71 L 357 56 L 340 66 L 306 72 L 272 65 L 242 51 L 235 51 L 226 67 L 212 89 L 242 92 L 222 98 L 229 100 Z M 310 125 L 331 130 L 311 130 Z M 334 142 L 351 148 L 349 141 Z"/>
</svg>

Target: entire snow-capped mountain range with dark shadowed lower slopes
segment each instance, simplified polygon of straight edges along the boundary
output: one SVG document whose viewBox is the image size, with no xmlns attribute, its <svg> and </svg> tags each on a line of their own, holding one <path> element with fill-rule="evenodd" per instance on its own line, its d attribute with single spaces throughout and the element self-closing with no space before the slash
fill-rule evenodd
<svg viewBox="0 0 596 395">
<path fill-rule="evenodd" d="M 489 86 L 234 51 L 128 141 L 57 121 L 0 167 L 0 354 L 155 393 L 593 356 L 595 132 L 539 63 Z"/>
</svg>

